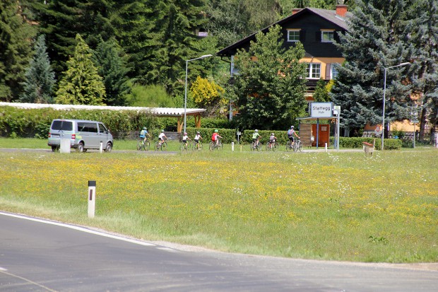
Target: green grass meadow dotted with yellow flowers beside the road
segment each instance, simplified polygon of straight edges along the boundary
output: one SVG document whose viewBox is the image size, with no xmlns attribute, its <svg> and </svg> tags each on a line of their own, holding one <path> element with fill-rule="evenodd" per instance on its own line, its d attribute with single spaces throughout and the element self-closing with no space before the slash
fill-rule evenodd
<svg viewBox="0 0 438 292">
<path fill-rule="evenodd" d="M 0 148 L 46 143 L 0 139 Z M 372 157 L 227 149 L 0 151 L 0 209 L 230 252 L 438 262 L 437 149 Z M 93 219 L 88 180 L 97 182 Z"/>
</svg>

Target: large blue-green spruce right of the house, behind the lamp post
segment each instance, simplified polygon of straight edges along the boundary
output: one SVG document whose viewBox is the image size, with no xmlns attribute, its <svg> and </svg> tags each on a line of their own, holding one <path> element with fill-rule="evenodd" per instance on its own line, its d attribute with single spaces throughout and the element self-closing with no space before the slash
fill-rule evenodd
<svg viewBox="0 0 438 292">
<path fill-rule="evenodd" d="M 383 110 L 384 69 L 410 59 L 406 48 L 408 32 L 403 23 L 405 1 L 355 1 L 357 7 L 350 18 L 349 32 L 338 44 L 345 65 L 338 67 L 332 99 L 341 105 L 341 125 L 360 134 L 367 123 L 381 124 Z M 366 23 L 367 25 L 364 25 Z M 385 124 L 408 117 L 410 86 L 406 68 L 387 70 Z"/>
</svg>

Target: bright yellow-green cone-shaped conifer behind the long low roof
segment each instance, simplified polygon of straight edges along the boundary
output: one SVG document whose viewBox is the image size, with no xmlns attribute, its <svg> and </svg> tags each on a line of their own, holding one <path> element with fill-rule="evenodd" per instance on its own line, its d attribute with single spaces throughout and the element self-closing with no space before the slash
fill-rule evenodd
<svg viewBox="0 0 438 292">
<path fill-rule="evenodd" d="M 73 57 L 67 61 L 68 69 L 59 82 L 56 103 L 64 105 L 105 105 L 105 85 L 92 61 L 92 53 L 81 35 Z"/>
</svg>

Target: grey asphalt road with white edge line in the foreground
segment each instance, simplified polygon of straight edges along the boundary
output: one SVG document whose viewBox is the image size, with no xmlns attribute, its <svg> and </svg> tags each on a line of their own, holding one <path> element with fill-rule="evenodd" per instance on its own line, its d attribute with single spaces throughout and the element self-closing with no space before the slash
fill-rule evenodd
<svg viewBox="0 0 438 292">
<path fill-rule="evenodd" d="M 438 271 L 148 243 L 0 212 L 0 291 L 437 291 Z"/>
</svg>

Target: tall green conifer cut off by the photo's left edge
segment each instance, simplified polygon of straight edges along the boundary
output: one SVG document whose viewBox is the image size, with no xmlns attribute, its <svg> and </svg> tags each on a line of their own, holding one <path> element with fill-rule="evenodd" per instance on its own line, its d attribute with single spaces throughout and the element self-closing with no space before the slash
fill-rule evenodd
<svg viewBox="0 0 438 292">
<path fill-rule="evenodd" d="M 18 1 L 0 1 L 0 100 L 17 100 L 25 66 L 32 57 L 35 29 L 25 21 Z"/>
</svg>

